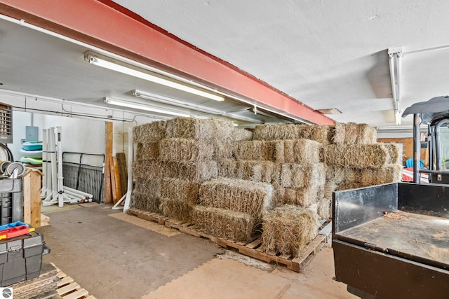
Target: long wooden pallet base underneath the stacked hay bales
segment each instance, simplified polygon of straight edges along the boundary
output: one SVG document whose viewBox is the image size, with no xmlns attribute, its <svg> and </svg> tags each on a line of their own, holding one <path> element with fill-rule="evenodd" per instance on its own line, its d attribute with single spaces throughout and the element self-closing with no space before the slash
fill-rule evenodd
<svg viewBox="0 0 449 299">
<path fill-rule="evenodd" d="M 260 235 L 255 237 L 250 242 L 234 242 L 228 239 L 222 239 L 220 237 L 215 237 L 213 235 L 208 235 L 201 230 L 196 228 L 193 223 L 188 223 L 184 221 L 179 221 L 173 218 L 168 218 L 156 213 L 150 213 L 147 211 L 141 211 L 138 209 L 129 209 L 129 213 L 139 218 L 154 221 L 161 225 L 166 225 L 168 228 L 175 228 L 180 232 L 184 232 L 187 235 L 192 235 L 194 237 L 203 237 L 210 239 L 210 241 L 227 249 L 234 249 L 239 251 L 239 253 L 250 256 L 251 258 L 257 258 L 266 263 L 276 263 L 281 265 L 286 265 L 286 267 L 295 272 L 300 272 L 304 270 L 310 260 L 315 256 L 315 254 L 330 240 L 330 232 L 332 230 L 332 223 L 325 223 L 319 230 L 319 235 L 313 239 L 309 245 L 301 252 L 300 256 L 283 255 L 276 252 L 264 252 L 260 248 L 262 246 L 262 238 Z"/>
</svg>

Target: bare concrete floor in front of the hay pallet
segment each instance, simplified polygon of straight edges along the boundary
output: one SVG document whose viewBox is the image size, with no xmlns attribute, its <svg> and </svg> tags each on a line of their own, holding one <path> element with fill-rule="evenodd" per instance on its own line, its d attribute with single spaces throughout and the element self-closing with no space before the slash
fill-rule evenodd
<svg viewBox="0 0 449 299">
<path fill-rule="evenodd" d="M 105 204 L 52 211 L 51 225 L 40 229 L 51 248 L 43 260 L 98 299 L 355 298 L 332 280 L 330 247 L 296 273 L 236 253 L 222 255 L 206 239 L 116 213 Z M 234 259 L 223 258 L 228 256 Z"/>
</svg>

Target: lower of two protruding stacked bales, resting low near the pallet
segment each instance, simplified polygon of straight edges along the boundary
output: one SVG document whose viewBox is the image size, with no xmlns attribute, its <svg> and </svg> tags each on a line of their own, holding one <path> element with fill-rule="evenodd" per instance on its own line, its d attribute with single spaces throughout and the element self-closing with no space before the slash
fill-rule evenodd
<svg viewBox="0 0 449 299">
<path fill-rule="evenodd" d="M 236 242 L 249 242 L 255 232 L 255 219 L 239 211 L 195 206 L 192 218 L 203 232 Z"/>
</svg>

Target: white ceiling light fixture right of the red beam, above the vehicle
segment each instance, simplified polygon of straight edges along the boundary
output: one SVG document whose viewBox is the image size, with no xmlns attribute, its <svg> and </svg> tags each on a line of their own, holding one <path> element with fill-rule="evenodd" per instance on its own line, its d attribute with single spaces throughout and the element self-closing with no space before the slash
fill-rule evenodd
<svg viewBox="0 0 449 299">
<path fill-rule="evenodd" d="M 402 69 L 402 47 L 388 49 L 388 61 L 390 67 L 391 91 L 394 100 L 394 118 L 396 125 L 401 125 L 401 69 Z"/>
</svg>

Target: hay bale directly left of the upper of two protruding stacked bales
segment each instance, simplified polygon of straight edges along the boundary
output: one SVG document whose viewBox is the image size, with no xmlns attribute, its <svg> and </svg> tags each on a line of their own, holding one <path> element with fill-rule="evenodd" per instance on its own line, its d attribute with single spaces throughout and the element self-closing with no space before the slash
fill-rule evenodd
<svg viewBox="0 0 449 299">
<path fill-rule="evenodd" d="M 198 195 L 199 183 L 183 179 L 161 179 L 161 197 L 196 204 Z"/>
</svg>

